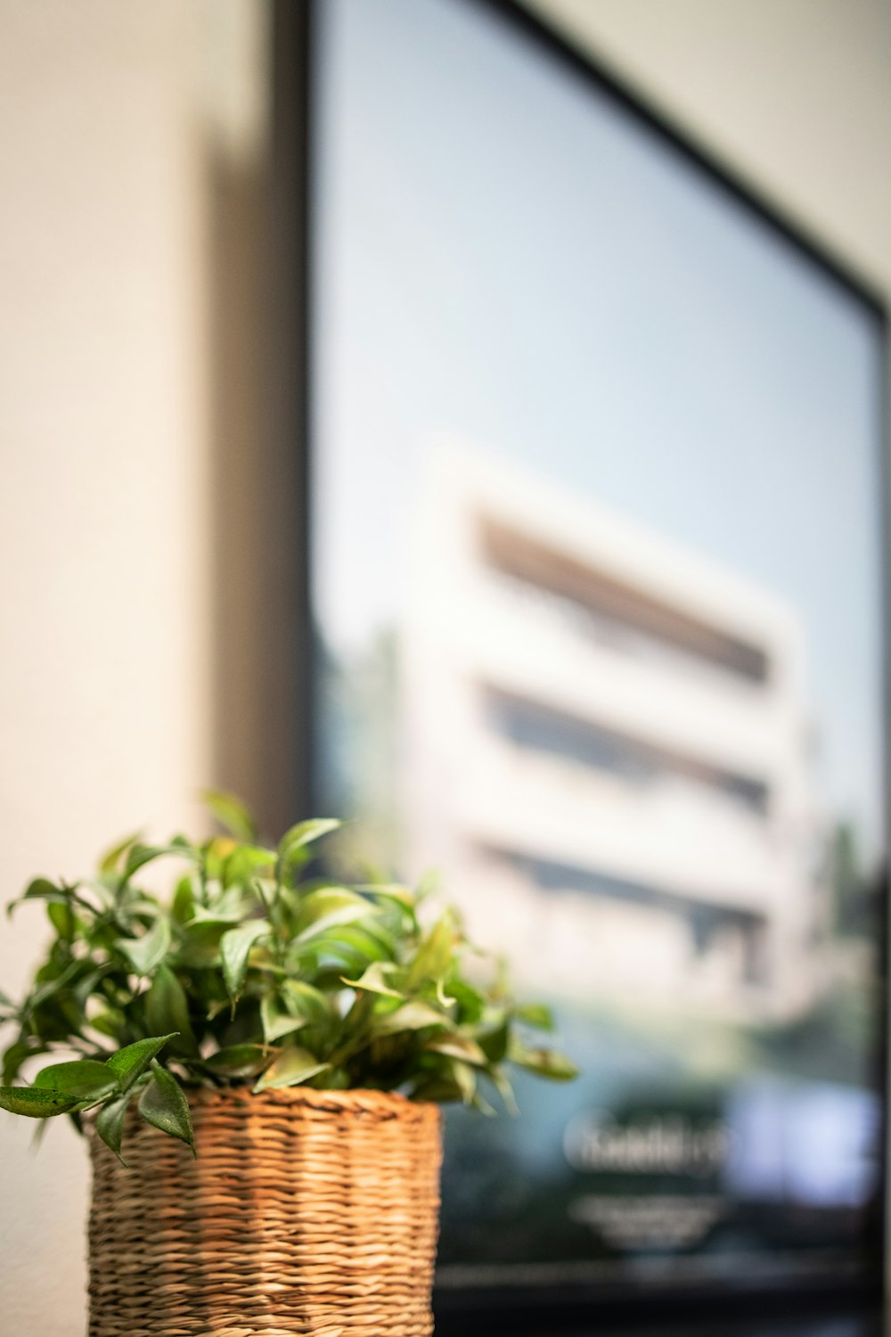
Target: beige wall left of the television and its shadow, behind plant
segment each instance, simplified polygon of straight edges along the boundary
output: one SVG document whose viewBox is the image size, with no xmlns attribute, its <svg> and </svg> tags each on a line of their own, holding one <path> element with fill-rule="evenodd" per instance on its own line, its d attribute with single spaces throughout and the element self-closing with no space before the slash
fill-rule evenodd
<svg viewBox="0 0 891 1337">
<path fill-rule="evenodd" d="M 3 900 L 210 778 L 208 167 L 254 114 L 216 3 L 0 3 Z M 43 923 L 0 923 L 4 988 Z M 0 1115 L 0 1328 L 80 1337 L 84 1157 L 32 1132 Z"/>
</svg>

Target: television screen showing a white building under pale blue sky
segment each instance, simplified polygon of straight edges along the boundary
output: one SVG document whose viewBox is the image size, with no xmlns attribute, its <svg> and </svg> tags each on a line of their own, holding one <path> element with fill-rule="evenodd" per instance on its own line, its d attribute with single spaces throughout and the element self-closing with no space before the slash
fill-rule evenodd
<svg viewBox="0 0 891 1337">
<path fill-rule="evenodd" d="M 510 4 L 301 15 L 313 808 L 582 1070 L 449 1110 L 439 1310 L 871 1293 L 882 303 Z"/>
</svg>

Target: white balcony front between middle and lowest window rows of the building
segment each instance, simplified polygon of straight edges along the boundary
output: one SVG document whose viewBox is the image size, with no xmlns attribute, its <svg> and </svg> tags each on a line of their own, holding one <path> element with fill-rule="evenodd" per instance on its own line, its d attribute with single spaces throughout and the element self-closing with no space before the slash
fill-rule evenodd
<svg viewBox="0 0 891 1337">
<path fill-rule="evenodd" d="M 806 894 L 803 852 L 705 785 L 635 785 L 482 734 L 465 759 L 454 817 L 481 846 L 767 920 Z"/>
</svg>

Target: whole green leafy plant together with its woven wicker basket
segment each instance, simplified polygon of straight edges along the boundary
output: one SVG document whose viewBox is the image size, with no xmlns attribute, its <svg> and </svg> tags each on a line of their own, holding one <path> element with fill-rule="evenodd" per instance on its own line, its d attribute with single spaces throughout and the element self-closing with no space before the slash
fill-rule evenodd
<svg viewBox="0 0 891 1337">
<path fill-rule="evenodd" d="M 90 1337 L 429 1333 L 439 1103 L 574 1070 L 453 909 L 310 876 L 337 821 L 271 848 L 207 797 L 227 836 L 132 837 L 20 897 L 55 936 L 0 996 L 0 1107 L 87 1135 Z"/>
</svg>

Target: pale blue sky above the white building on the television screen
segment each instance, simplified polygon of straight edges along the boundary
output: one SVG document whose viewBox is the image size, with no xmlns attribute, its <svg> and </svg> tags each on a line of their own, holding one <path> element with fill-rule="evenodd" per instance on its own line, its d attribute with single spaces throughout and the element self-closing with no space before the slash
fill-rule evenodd
<svg viewBox="0 0 891 1337">
<path fill-rule="evenodd" d="M 827 797 L 880 828 L 868 310 L 588 84 L 460 0 L 327 0 L 314 607 L 398 622 L 453 432 L 800 612 Z"/>
</svg>

